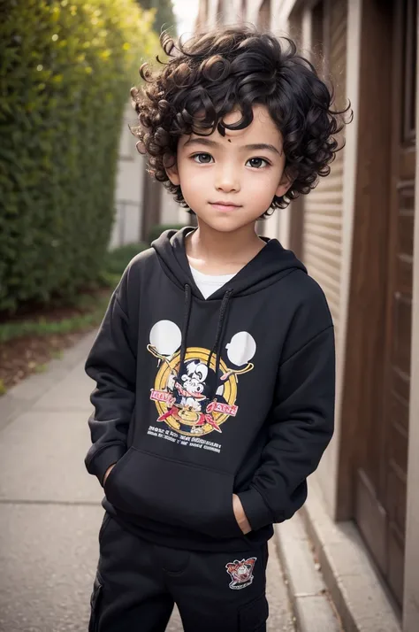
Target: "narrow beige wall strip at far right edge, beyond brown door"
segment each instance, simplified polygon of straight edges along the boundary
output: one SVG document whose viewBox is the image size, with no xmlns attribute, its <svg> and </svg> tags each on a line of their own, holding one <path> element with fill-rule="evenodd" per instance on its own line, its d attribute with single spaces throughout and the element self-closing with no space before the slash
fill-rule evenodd
<svg viewBox="0 0 419 632">
<path fill-rule="evenodd" d="M 418 20 L 419 25 L 419 20 Z M 418 40 L 419 42 L 419 27 Z M 419 57 L 419 56 L 418 56 Z M 416 64 L 419 86 L 419 61 Z M 416 97 L 416 130 L 419 130 L 419 98 Z M 416 152 L 417 156 L 417 152 Z M 419 160 L 416 158 L 416 184 Z M 415 189 L 415 236 L 412 311 L 412 368 L 410 382 L 410 420 L 408 451 L 408 516 L 403 632 L 419 629 L 419 187 Z"/>
</svg>

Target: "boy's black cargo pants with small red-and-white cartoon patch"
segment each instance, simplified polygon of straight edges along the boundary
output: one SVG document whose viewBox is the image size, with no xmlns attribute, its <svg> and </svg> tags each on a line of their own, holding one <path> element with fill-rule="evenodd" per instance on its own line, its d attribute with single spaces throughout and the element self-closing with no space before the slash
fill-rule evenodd
<svg viewBox="0 0 419 632">
<path fill-rule="evenodd" d="M 163 632 L 174 603 L 185 632 L 265 632 L 268 545 L 183 551 L 149 543 L 108 513 L 88 632 Z"/>
</svg>

